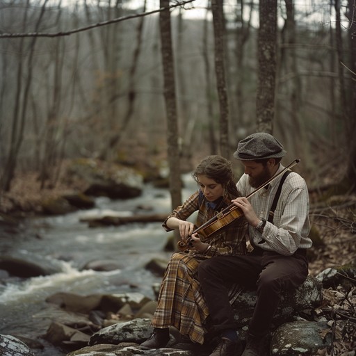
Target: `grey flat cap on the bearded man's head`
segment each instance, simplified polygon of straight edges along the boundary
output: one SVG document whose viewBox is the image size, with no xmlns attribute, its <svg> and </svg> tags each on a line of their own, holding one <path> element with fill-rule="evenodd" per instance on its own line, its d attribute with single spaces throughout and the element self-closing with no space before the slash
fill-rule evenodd
<svg viewBox="0 0 356 356">
<path fill-rule="evenodd" d="M 286 154 L 282 144 L 266 132 L 252 133 L 237 144 L 234 157 L 241 161 L 277 159 Z"/>
</svg>

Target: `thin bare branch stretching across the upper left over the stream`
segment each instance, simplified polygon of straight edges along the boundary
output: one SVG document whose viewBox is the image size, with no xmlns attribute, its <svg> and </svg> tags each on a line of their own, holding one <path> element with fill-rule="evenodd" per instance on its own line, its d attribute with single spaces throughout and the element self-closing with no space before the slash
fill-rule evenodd
<svg viewBox="0 0 356 356">
<path fill-rule="evenodd" d="M 61 36 L 68 36 L 68 35 L 72 35 L 73 33 L 79 33 L 79 32 L 83 32 L 83 31 L 88 31 L 91 29 L 95 29 L 97 27 L 101 27 L 101 26 L 107 26 L 110 24 L 116 24 L 118 22 L 122 22 L 122 21 L 126 21 L 127 19 L 136 19 L 137 17 L 143 17 L 143 16 L 148 16 L 148 15 L 152 15 L 154 13 L 161 13 L 161 11 L 171 8 L 177 8 L 178 6 L 185 6 L 187 3 L 191 3 L 194 0 L 185 0 L 185 1 L 181 1 L 179 3 L 175 3 L 174 5 L 170 5 L 168 7 L 165 8 L 159 8 L 157 10 L 152 10 L 152 11 L 148 11 L 147 13 L 138 13 L 138 14 L 134 14 L 134 15 L 127 15 L 127 16 L 122 16 L 122 17 L 118 17 L 116 19 L 110 19 L 108 21 L 104 21 L 104 22 L 98 22 L 97 24 L 92 24 L 90 26 L 84 26 L 84 27 L 80 27 L 79 29 L 74 29 L 71 31 L 60 31 L 60 32 L 56 32 L 56 33 L 2 33 L 0 35 L 0 38 L 23 38 L 23 37 L 61 37 Z"/>
</svg>

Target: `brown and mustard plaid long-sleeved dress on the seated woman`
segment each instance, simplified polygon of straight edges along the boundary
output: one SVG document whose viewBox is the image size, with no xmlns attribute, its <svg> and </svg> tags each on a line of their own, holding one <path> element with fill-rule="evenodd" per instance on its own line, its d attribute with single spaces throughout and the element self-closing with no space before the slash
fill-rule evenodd
<svg viewBox="0 0 356 356">
<path fill-rule="evenodd" d="M 196 225 L 200 227 L 218 211 L 229 206 L 232 199 L 234 197 L 226 196 L 218 204 L 214 204 L 201 191 L 197 191 L 168 218 L 174 216 L 186 220 L 193 212 L 198 211 Z M 166 225 L 168 218 L 163 223 L 166 231 L 170 231 Z M 223 232 L 202 238 L 204 243 L 211 245 L 207 254 L 196 251 L 172 254 L 163 276 L 158 305 L 152 319 L 153 327 L 174 326 L 180 334 L 188 335 L 191 341 L 204 342 L 204 334 L 207 333 L 205 321 L 209 310 L 197 280 L 197 266 L 200 261 L 213 256 L 245 254 L 247 231 L 248 223 L 242 216 L 229 224 Z"/>
</svg>

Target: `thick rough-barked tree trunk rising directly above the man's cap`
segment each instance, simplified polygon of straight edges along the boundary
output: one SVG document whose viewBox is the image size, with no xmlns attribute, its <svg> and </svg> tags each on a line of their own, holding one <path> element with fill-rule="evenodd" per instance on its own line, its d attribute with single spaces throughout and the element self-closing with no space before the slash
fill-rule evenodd
<svg viewBox="0 0 356 356">
<path fill-rule="evenodd" d="M 277 0 L 259 0 L 257 131 L 273 132 L 277 43 Z"/>
</svg>

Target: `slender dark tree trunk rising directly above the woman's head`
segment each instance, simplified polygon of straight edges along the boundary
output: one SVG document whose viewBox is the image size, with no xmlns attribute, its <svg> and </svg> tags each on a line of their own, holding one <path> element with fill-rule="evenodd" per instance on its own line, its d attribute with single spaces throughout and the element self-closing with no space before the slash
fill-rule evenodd
<svg viewBox="0 0 356 356">
<path fill-rule="evenodd" d="M 227 86 L 225 79 L 225 26 L 223 0 L 212 0 L 211 10 L 213 12 L 214 29 L 214 54 L 215 54 L 215 72 L 216 85 L 218 89 L 219 107 L 220 107 L 220 154 L 225 158 L 231 155 L 229 149 L 229 102 L 227 100 Z"/>
</svg>

